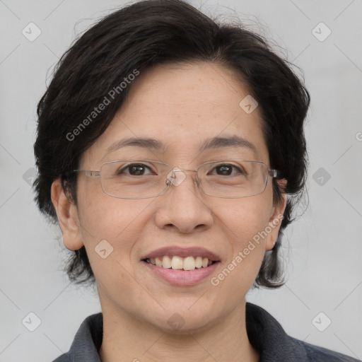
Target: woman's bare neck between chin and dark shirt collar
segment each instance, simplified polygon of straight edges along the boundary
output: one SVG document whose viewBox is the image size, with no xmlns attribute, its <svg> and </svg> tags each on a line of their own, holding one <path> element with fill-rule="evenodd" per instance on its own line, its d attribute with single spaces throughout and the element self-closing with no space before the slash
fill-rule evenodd
<svg viewBox="0 0 362 362">
<path fill-rule="evenodd" d="M 103 305 L 102 362 L 257 362 L 247 338 L 245 302 L 202 330 L 165 332 L 124 310 Z"/>
</svg>

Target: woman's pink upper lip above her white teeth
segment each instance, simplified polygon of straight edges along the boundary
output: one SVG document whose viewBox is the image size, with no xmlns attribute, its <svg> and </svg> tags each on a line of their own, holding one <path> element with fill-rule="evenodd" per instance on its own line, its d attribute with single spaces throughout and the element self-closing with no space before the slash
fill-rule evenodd
<svg viewBox="0 0 362 362">
<path fill-rule="evenodd" d="M 163 257 L 163 255 L 177 255 L 177 257 L 207 257 L 213 262 L 218 262 L 220 257 L 211 252 L 210 250 L 205 249 L 204 247 L 178 247 L 178 246 L 165 246 L 160 247 L 160 249 L 153 250 L 148 252 L 141 260 L 151 259 L 151 257 Z"/>
</svg>

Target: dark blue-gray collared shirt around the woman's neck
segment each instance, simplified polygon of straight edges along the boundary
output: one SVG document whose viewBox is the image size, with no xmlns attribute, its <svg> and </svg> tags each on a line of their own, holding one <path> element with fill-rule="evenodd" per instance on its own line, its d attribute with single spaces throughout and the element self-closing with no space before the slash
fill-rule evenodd
<svg viewBox="0 0 362 362">
<path fill-rule="evenodd" d="M 259 351 L 259 362 L 361 362 L 288 336 L 279 322 L 266 310 L 246 303 L 246 328 L 252 346 Z M 93 314 L 76 332 L 69 352 L 53 362 L 100 362 L 103 340 L 103 314 Z"/>
</svg>

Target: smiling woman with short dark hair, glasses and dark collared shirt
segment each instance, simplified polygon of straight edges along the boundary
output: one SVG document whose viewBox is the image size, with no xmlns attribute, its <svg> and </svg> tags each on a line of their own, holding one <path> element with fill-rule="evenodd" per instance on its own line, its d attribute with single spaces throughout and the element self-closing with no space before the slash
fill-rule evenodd
<svg viewBox="0 0 362 362">
<path fill-rule="evenodd" d="M 182 1 L 139 1 L 75 42 L 37 109 L 36 201 L 102 313 L 55 361 L 357 361 L 245 302 L 283 285 L 309 102 L 262 37 Z"/>
</svg>

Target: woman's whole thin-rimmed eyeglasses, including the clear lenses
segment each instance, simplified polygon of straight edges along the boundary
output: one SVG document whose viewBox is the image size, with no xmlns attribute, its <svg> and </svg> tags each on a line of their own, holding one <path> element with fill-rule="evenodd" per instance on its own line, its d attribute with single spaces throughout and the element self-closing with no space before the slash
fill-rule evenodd
<svg viewBox="0 0 362 362">
<path fill-rule="evenodd" d="M 156 160 L 115 160 L 103 163 L 99 171 L 74 170 L 100 177 L 105 194 L 120 199 L 146 199 L 165 194 L 170 185 L 186 179 L 184 171 L 197 173 L 195 182 L 211 197 L 240 198 L 264 192 L 268 177 L 279 177 L 265 163 L 250 160 L 221 160 L 202 163 L 197 169 L 172 168 Z"/>
</svg>

